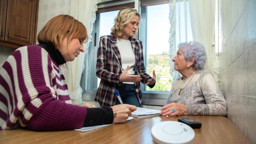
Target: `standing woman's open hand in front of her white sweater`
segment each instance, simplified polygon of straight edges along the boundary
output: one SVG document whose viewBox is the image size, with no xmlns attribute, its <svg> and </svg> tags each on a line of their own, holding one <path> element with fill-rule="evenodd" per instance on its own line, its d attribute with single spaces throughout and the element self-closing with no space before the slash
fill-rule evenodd
<svg viewBox="0 0 256 144">
<path fill-rule="evenodd" d="M 122 72 L 119 77 L 119 82 L 137 82 L 141 81 L 141 76 L 139 75 L 131 75 L 128 74 L 127 71 L 129 70 L 129 65 L 127 65 L 126 70 Z"/>
</svg>

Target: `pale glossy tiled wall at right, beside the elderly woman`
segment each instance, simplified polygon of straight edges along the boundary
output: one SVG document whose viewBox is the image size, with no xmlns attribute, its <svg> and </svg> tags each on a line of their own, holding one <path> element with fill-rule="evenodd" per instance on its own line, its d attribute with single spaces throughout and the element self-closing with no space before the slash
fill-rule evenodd
<svg viewBox="0 0 256 144">
<path fill-rule="evenodd" d="M 256 143 L 256 1 L 218 2 L 220 88 L 227 118 Z"/>
</svg>

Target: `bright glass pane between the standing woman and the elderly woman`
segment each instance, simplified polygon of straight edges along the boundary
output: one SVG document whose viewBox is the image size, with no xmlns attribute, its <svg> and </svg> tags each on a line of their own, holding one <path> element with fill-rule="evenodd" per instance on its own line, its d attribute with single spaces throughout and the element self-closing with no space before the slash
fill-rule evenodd
<svg viewBox="0 0 256 144">
<path fill-rule="evenodd" d="M 169 73 L 169 3 L 141 7 L 142 25 L 140 38 L 144 40 L 144 64 L 147 74 L 157 79 L 154 88 L 144 87 L 145 91 L 170 92 L 173 77 Z M 142 41 L 143 41 L 142 40 Z"/>
</svg>

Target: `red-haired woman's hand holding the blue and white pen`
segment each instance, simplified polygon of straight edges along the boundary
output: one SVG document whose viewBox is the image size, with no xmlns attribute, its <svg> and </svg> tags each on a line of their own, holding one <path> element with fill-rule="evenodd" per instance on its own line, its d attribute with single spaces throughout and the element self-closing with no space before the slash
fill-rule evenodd
<svg viewBox="0 0 256 144">
<path fill-rule="evenodd" d="M 136 106 L 129 105 L 129 104 L 118 104 L 112 106 L 113 113 L 114 113 L 114 120 L 113 124 L 116 123 L 123 123 L 126 119 L 131 116 L 131 112 L 135 111 L 137 108 Z"/>
</svg>

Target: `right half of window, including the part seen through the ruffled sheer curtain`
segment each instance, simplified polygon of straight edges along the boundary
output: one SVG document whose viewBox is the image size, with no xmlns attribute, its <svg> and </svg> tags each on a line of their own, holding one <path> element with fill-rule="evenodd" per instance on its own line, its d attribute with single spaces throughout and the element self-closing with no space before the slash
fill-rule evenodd
<svg viewBox="0 0 256 144">
<path fill-rule="evenodd" d="M 165 2 L 165 1 L 162 1 Z M 187 12 L 189 12 L 188 1 Z M 180 8 L 180 9 L 179 9 Z M 169 55 L 169 3 L 148 2 L 141 0 L 142 26 L 140 38 L 143 43 L 145 53 L 146 72 L 152 75 L 152 71 L 156 71 L 157 83 L 154 88 L 144 86 L 144 91 L 164 91 L 170 92 L 173 83 L 173 77 L 170 70 Z M 176 2 L 176 44 L 186 42 L 185 24 L 184 24 L 184 2 Z M 187 15 L 187 41 L 192 41 L 192 30 L 190 24 L 190 16 Z M 177 47 L 177 45 L 176 45 Z"/>
</svg>

